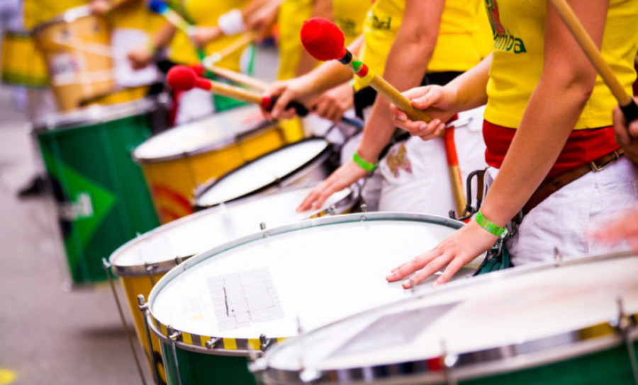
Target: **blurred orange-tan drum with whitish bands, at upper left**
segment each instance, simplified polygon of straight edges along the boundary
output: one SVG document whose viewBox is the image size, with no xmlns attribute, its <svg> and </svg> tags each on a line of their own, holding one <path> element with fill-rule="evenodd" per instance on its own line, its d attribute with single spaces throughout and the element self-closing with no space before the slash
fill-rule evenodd
<svg viewBox="0 0 638 385">
<path fill-rule="evenodd" d="M 44 52 L 60 110 L 74 110 L 80 100 L 115 86 L 111 30 L 106 18 L 91 14 L 88 6 L 69 9 L 36 26 L 33 35 Z"/>
</svg>

